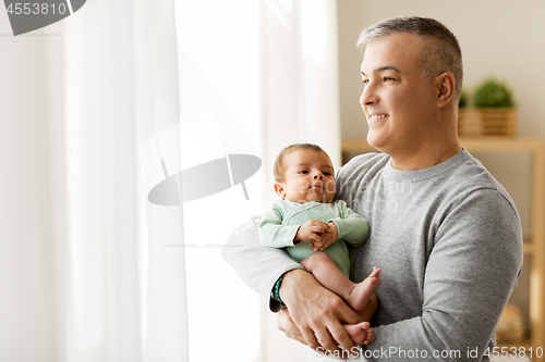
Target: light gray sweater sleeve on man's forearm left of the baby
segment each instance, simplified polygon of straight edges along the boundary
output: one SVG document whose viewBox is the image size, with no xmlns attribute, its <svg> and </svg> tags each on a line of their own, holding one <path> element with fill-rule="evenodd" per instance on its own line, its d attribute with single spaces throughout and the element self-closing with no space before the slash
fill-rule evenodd
<svg viewBox="0 0 545 362">
<path fill-rule="evenodd" d="M 258 225 L 261 217 L 253 216 L 237 227 L 221 255 L 240 278 L 269 304 L 274 312 L 281 309 L 279 302 L 270 298 L 276 280 L 294 269 L 303 269 L 282 249 L 268 248 L 259 244 Z"/>
</svg>

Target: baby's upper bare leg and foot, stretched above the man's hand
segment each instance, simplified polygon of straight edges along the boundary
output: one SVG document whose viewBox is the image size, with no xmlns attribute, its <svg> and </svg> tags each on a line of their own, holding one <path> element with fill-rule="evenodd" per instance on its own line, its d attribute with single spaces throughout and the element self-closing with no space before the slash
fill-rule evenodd
<svg viewBox="0 0 545 362">
<path fill-rule="evenodd" d="M 380 270 L 375 267 L 373 273 L 362 283 L 352 283 L 337 267 L 335 261 L 325 252 L 316 252 L 301 261 L 301 265 L 314 275 L 327 289 L 344 299 L 355 311 L 367 305 L 370 297 L 380 285 Z"/>
</svg>

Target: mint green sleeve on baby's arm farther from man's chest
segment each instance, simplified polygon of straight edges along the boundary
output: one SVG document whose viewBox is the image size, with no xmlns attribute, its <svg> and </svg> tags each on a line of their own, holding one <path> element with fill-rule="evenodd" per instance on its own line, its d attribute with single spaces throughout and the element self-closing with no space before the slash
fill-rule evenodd
<svg viewBox="0 0 545 362">
<path fill-rule="evenodd" d="M 293 239 L 301 225 L 282 225 L 286 211 L 279 202 L 275 202 L 259 224 L 259 241 L 267 247 L 293 247 Z"/>
</svg>

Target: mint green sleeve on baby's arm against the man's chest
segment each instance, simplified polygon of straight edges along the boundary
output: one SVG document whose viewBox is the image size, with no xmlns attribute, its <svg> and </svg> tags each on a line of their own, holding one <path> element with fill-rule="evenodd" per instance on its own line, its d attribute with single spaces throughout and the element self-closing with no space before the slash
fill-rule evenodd
<svg viewBox="0 0 545 362">
<path fill-rule="evenodd" d="M 339 229 L 339 239 L 343 239 L 352 247 L 365 244 L 370 236 L 370 224 L 360 214 L 347 207 L 344 201 L 338 201 L 339 217 L 331 219 Z"/>
</svg>

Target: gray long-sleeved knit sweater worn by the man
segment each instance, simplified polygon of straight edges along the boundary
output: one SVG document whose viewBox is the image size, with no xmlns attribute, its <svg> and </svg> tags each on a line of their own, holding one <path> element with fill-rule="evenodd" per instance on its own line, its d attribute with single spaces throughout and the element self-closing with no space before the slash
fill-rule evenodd
<svg viewBox="0 0 545 362">
<path fill-rule="evenodd" d="M 371 225 L 367 242 L 350 252 L 352 279 L 382 270 L 376 341 L 364 347 L 365 360 L 487 361 L 522 266 L 514 204 L 465 150 L 426 170 L 399 171 L 389 161 L 360 155 L 337 176 L 338 198 Z M 256 223 L 233 233 L 223 258 L 269 300 L 276 279 L 301 266 L 261 246 Z"/>
</svg>

